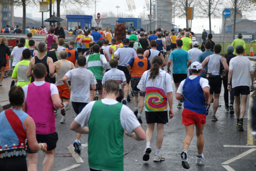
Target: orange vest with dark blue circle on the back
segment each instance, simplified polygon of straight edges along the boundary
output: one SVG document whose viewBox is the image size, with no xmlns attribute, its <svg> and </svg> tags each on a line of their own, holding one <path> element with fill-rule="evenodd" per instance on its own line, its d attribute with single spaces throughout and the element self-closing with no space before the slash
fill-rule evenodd
<svg viewBox="0 0 256 171">
<path fill-rule="evenodd" d="M 132 65 L 131 77 L 139 78 L 142 74 L 148 70 L 148 59 L 139 57 L 134 57 L 134 63 Z"/>
</svg>

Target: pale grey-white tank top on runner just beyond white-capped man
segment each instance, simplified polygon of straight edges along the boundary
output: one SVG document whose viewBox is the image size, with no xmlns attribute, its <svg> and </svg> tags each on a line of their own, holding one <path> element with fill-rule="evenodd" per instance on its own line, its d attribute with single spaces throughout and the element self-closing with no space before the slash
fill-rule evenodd
<svg viewBox="0 0 256 171">
<path fill-rule="evenodd" d="M 221 56 L 217 54 L 210 55 L 207 61 L 207 72 L 211 75 L 220 75 Z"/>
</svg>

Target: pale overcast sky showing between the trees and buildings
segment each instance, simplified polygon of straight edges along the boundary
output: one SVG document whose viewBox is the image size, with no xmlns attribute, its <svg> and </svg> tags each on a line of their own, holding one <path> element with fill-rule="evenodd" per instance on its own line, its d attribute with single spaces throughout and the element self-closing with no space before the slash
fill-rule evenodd
<svg viewBox="0 0 256 171">
<path fill-rule="evenodd" d="M 117 3 L 118 2 L 118 3 Z M 134 0 L 136 9 L 139 9 L 138 11 L 143 11 L 143 6 L 146 6 L 145 1 L 144 0 Z M 126 4 L 126 0 L 105 0 L 102 1 L 100 0 L 99 2 L 97 2 L 96 5 L 96 13 L 98 12 L 108 12 L 108 11 L 112 11 L 114 13 L 117 14 L 117 8 L 115 8 L 116 6 L 120 6 L 120 8 L 118 9 L 118 12 L 127 12 L 128 11 L 128 7 Z M 57 8 L 56 8 L 56 2 L 54 2 L 54 12 L 55 14 L 57 13 Z M 84 11 L 84 13 L 86 15 L 93 15 L 95 12 L 95 8 L 94 8 L 94 3 L 91 4 L 90 8 L 81 8 L 80 10 Z M 28 7 L 26 8 L 26 12 L 27 13 L 32 13 L 32 17 L 36 17 L 36 18 L 41 18 L 42 17 L 42 13 L 38 12 L 39 11 L 39 4 L 36 7 Z M 256 16 L 253 15 L 254 12 L 250 12 L 247 13 L 247 19 L 253 19 L 256 20 Z M 61 15 L 65 15 L 65 9 L 61 6 L 60 7 L 60 14 Z M 147 17 L 147 15 L 149 14 L 149 11 L 145 12 L 145 17 Z M 243 13 L 244 14 L 244 13 Z M 20 17 L 22 15 L 22 7 L 14 7 L 14 16 L 15 17 Z M 137 17 L 137 16 L 136 16 Z M 49 12 L 44 12 L 44 19 L 49 18 Z M 63 18 L 63 17 L 62 17 Z M 175 18 L 175 25 L 177 25 L 180 28 L 184 28 L 186 27 L 186 20 L 185 19 L 179 19 L 179 18 Z M 158 24 L 159 25 L 159 24 Z M 222 23 L 221 23 L 221 19 L 212 19 L 212 30 L 215 33 L 219 33 L 220 32 L 220 27 L 222 27 Z M 209 20 L 207 18 L 204 19 L 195 19 L 192 20 L 192 27 L 191 27 L 192 31 L 194 33 L 202 33 L 203 29 L 209 30 Z M 166 30 L 171 30 L 171 28 L 164 28 Z"/>
</svg>

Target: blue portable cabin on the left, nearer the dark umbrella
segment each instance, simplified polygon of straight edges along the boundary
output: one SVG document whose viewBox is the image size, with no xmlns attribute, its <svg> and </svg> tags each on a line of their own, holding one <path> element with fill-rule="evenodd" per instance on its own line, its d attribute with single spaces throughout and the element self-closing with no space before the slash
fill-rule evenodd
<svg viewBox="0 0 256 171">
<path fill-rule="evenodd" d="M 66 15 L 68 19 L 67 29 L 75 29 L 75 26 L 81 26 L 81 29 L 84 29 L 84 26 L 88 28 L 92 27 L 92 15 Z"/>
</svg>

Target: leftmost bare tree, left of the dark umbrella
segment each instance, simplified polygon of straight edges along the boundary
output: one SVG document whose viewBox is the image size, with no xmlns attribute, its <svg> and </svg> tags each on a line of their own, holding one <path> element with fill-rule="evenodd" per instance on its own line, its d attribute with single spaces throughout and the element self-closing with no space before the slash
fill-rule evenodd
<svg viewBox="0 0 256 171">
<path fill-rule="evenodd" d="M 22 34 L 26 34 L 26 5 L 36 5 L 36 0 L 0 0 L 0 4 L 3 6 L 15 5 L 23 7 Z"/>
</svg>

